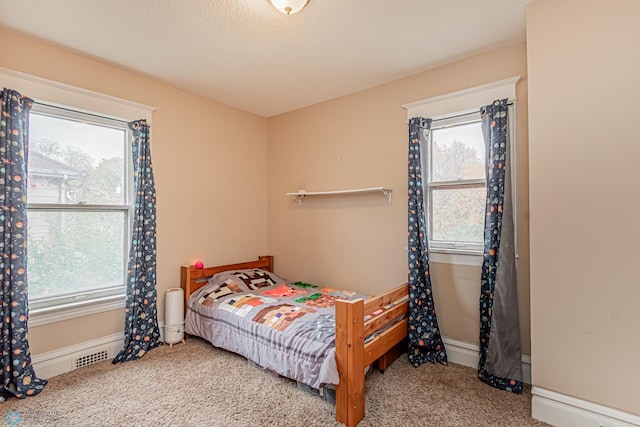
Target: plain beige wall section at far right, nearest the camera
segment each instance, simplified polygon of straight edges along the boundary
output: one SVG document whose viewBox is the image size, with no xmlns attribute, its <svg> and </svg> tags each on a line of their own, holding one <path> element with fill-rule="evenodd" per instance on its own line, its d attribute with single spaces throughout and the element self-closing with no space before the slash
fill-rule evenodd
<svg viewBox="0 0 640 427">
<path fill-rule="evenodd" d="M 640 415 L 640 2 L 527 8 L 533 385 Z"/>
</svg>

